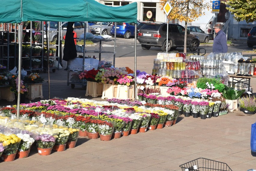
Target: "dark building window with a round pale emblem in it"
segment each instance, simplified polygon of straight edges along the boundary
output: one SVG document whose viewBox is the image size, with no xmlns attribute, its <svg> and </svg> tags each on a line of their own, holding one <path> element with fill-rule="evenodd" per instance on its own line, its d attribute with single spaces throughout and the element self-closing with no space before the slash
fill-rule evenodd
<svg viewBox="0 0 256 171">
<path fill-rule="evenodd" d="M 157 3 L 144 2 L 142 7 L 143 21 L 155 21 L 156 20 L 156 7 Z"/>
</svg>

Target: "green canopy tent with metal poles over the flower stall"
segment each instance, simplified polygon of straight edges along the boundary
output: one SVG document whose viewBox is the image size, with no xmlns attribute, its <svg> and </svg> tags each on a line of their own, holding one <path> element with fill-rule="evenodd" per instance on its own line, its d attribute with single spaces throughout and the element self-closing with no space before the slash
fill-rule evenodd
<svg viewBox="0 0 256 171">
<path fill-rule="evenodd" d="M 137 3 L 110 7 L 95 0 L 0 0 L 0 22 L 19 23 L 19 85 L 21 75 L 22 25 L 23 21 L 99 21 L 137 23 Z M 136 35 L 135 25 L 135 35 Z M 135 36 L 136 70 L 136 36 Z M 135 72 L 136 73 L 136 72 Z M 49 82 L 49 70 L 48 70 Z M 136 75 L 135 75 L 136 82 Z M 136 85 L 136 84 L 135 84 Z M 135 86 L 136 90 L 136 86 Z M 18 93 L 17 117 L 19 117 L 20 93 Z"/>
</svg>

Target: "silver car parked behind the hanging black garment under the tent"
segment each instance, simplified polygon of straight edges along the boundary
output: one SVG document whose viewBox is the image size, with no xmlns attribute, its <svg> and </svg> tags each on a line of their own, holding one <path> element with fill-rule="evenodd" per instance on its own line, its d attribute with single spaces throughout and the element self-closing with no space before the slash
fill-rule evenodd
<svg viewBox="0 0 256 171">
<path fill-rule="evenodd" d="M 48 22 L 47 22 L 48 26 Z M 62 30 L 62 37 L 66 35 L 67 32 L 67 27 L 68 27 L 68 22 L 62 22 L 61 25 L 61 30 Z M 47 27 L 48 29 L 49 27 Z M 50 22 L 50 36 L 49 40 L 51 42 L 57 40 L 57 28 L 58 28 L 58 22 L 51 21 Z M 87 32 L 91 32 L 89 24 L 87 24 Z M 45 30 L 45 25 L 44 25 L 44 30 Z M 80 36 L 84 33 L 84 22 L 75 22 L 74 23 L 74 31 L 77 34 L 77 38 L 80 38 Z M 46 34 L 44 33 L 44 41 L 46 40 Z"/>
</svg>

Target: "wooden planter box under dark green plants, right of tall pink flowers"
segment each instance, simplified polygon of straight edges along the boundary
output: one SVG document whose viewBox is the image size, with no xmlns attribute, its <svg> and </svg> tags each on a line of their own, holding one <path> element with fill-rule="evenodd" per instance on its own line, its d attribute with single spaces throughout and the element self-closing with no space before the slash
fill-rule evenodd
<svg viewBox="0 0 256 171">
<path fill-rule="evenodd" d="M 29 84 L 28 90 L 29 93 L 26 95 L 26 98 L 30 100 L 34 100 L 35 98 L 44 98 L 42 83 Z"/>
</svg>

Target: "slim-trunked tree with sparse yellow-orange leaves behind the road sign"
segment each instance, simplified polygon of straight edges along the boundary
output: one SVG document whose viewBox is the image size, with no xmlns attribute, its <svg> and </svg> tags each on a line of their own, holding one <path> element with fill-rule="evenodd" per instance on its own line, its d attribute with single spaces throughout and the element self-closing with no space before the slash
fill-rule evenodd
<svg viewBox="0 0 256 171">
<path fill-rule="evenodd" d="M 160 8 L 163 10 L 168 0 L 160 0 Z M 198 17 L 205 15 L 205 10 L 209 10 L 211 3 L 204 0 L 169 0 L 172 10 L 167 16 L 168 19 L 178 19 L 185 21 L 184 53 L 187 52 L 187 22 L 193 22 Z"/>
</svg>

